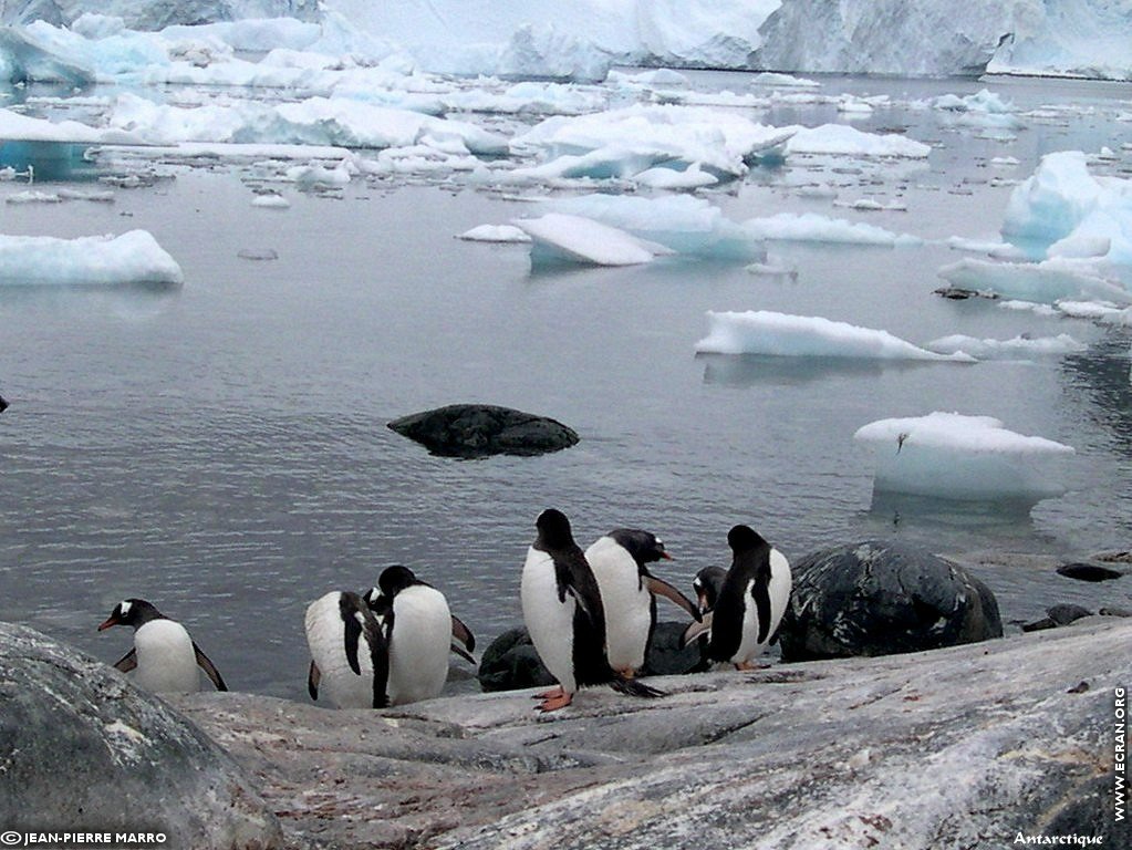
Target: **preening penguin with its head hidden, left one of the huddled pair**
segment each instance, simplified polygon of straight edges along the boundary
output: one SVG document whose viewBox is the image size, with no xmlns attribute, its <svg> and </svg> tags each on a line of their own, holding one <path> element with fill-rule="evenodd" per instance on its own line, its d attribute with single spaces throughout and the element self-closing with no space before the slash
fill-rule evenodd
<svg viewBox="0 0 1132 850">
<path fill-rule="evenodd" d="M 340 709 L 384 709 L 389 704 L 389 653 L 385 635 L 357 593 L 332 591 L 307 608 L 310 671 L 307 690 L 321 687 Z"/>
</svg>

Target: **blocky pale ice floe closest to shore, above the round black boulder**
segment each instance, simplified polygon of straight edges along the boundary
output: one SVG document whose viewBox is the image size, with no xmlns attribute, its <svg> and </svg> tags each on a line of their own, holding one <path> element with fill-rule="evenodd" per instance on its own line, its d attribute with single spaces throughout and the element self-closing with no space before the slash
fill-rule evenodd
<svg viewBox="0 0 1132 850">
<path fill-rule="evenodd" d="M 992 417 L 934 412 L 882 419 L 854 439 L 873 449 L 875 491 L 1036 503 L 1065 491 L 1058 462 L 1073 448 L 1007 430 Z"/>
</svg>

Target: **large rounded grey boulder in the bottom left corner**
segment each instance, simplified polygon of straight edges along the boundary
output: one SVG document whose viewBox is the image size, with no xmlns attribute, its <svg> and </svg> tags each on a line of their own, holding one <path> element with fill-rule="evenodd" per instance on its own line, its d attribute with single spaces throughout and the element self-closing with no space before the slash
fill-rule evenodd
<svg viewBox="0 0 1132 850">
<path fill-rule="evenodd" d="M 0 824 L 161 832 L 166 848 L 283 847 L 234 762 L 106 664 L 0 623 Z"/>
</svg>

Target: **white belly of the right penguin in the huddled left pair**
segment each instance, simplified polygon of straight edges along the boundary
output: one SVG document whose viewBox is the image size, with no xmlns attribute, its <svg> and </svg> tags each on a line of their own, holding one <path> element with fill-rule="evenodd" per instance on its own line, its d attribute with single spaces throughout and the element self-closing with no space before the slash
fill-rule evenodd
<svg viewBox="0 0 1132 850">
<path fill-rule="evenodd" d="M 452 612 L 435 587 L 412 585 L 393 599 L 389 704 L 430 699 L 444 690 L 452 645 Z"/>
</svg>

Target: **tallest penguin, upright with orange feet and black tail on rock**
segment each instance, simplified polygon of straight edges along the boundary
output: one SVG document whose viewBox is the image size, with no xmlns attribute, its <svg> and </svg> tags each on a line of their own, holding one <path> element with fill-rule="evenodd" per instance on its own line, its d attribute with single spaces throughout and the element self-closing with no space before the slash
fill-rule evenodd
<svg viewBox="0 0 1132 850">
<path fill-rule="evenodd" d="M 603 682 L 633 696 L 661 696 L 609 666 L 601 591 L 574 542 L 569 520 L 549 508 L 539 514 L 535 527 L 538 535 L 523 566 L 523 620 L 539 658 L 558 680 L 557 688 L 539 695 L 539 709 L 565 707 L 582 685 Z"/>
</svg>

